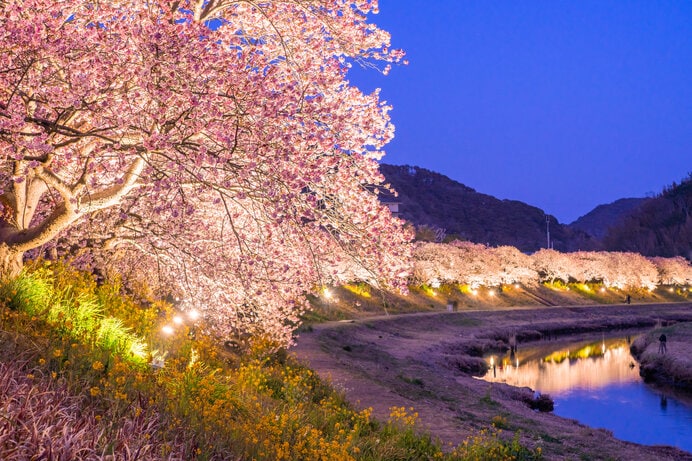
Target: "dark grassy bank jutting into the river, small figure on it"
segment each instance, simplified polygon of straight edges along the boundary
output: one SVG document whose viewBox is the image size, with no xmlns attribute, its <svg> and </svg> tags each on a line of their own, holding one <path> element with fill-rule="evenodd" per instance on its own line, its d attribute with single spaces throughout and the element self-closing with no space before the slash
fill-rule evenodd
<svg viewBox="0 0 692 461">
<path fill-rule="evenodd" d="M 659 338 L 666 336 L 663 353 Z M 637 338 L 630 347 L 646 382 L 692 392 L 692 323 L 656 328 Z"/>
</svg>

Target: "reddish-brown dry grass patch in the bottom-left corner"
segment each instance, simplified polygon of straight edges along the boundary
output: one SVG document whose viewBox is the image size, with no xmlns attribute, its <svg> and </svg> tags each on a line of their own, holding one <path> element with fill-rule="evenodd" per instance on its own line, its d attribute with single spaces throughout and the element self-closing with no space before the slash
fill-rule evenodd
<svg viewBox="0 0 692 461">
<path fill-rule="evenodd" d="M 0 459 L 166 459 L 155 415 L 105 420 L 88 395 L 23 365 L 0 363 Z"/>
</svg>

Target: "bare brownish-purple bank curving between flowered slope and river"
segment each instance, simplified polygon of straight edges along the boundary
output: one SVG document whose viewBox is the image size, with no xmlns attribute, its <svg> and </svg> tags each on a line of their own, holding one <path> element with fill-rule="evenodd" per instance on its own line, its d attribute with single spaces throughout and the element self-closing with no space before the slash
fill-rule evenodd
<svg viewBox="0 0 692 461">
<path fill-rule="evenodd" d="M 331 379 L 359 408 L 386 420 L 393 406 L 413 407 L 421 427 L 445 443 L 461 443 L 503 418 L 506 433 L 541 446 L 546 459 L 692 460 L 670 447 L 644 447 L 615 439 L 552 413 L 531 410 L 528 388 L 475 379 L 482 353 L 522 343 L 633 327 L 692 321 L 692 304 L 515 308 L 408 314 L 330 322 L 303 332 L 292 349 Z"/>
</svg>

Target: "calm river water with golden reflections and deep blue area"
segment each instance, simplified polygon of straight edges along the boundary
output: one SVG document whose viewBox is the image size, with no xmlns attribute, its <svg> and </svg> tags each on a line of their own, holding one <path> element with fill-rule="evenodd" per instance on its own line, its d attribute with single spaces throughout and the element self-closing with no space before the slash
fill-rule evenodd
<svg viewBox="0 0 692 461">
<path fill-rule="evenodd" d="M 595 338 L 487 357 L 487 381 L 528 386 L 550 394 L 554 413 L 615 437 L 692 452 L 692 397 L 645 384 L 628 338 Z"/>
</svg>

